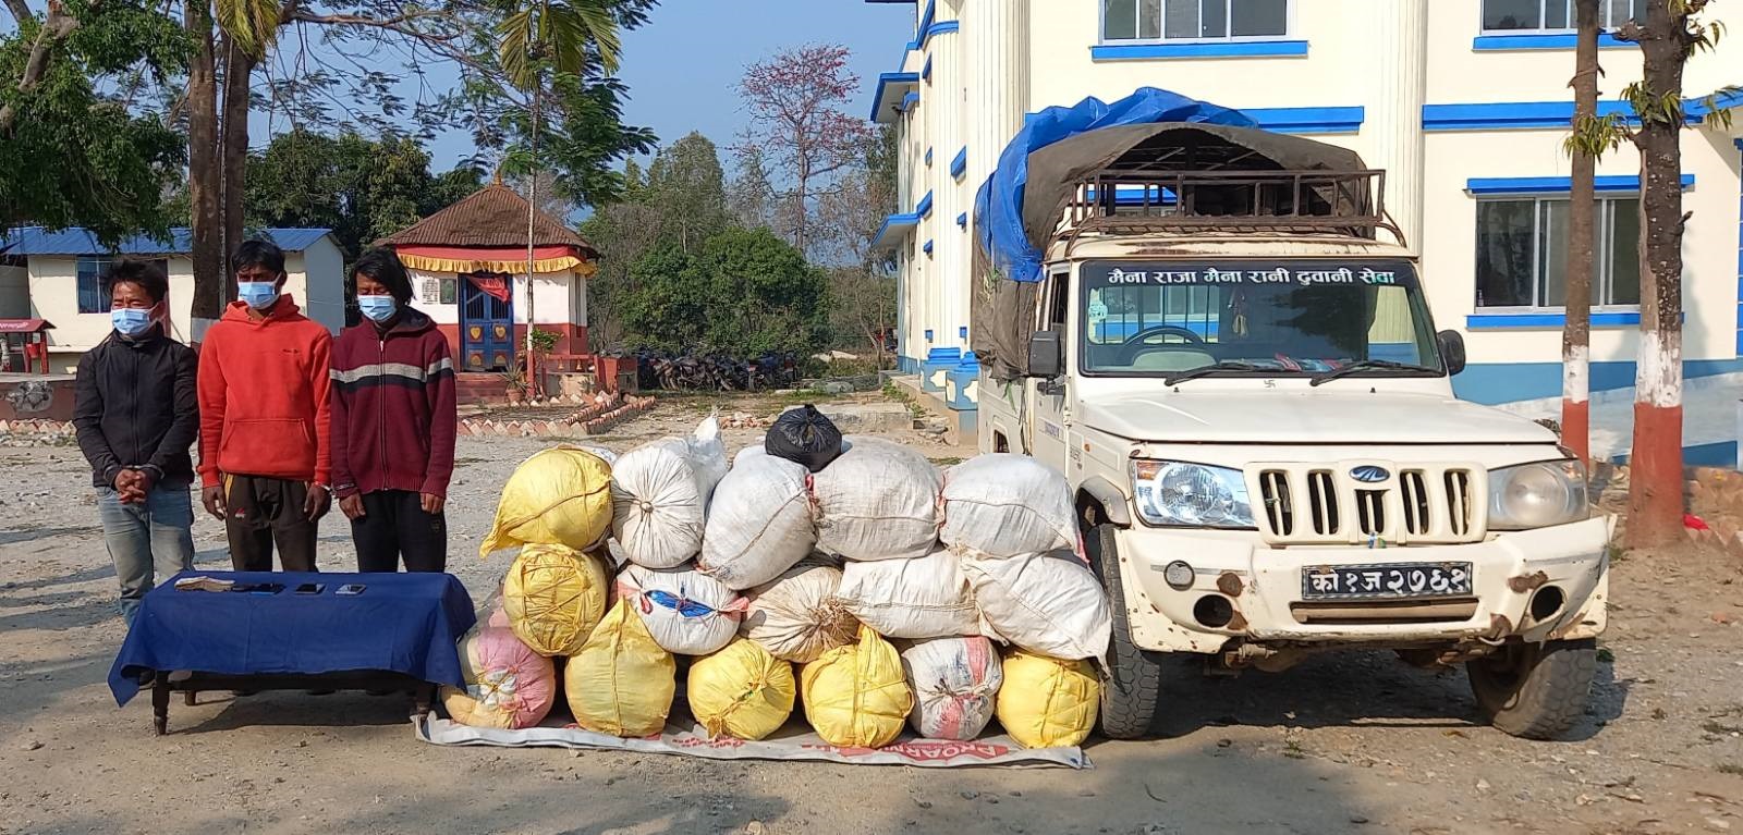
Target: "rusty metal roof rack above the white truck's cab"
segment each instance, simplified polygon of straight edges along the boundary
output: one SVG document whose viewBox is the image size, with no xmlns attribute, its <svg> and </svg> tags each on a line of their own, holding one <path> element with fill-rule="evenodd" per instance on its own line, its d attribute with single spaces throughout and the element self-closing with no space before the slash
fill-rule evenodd
<svg viewBox="0 0 1743 835">
<path fill-rule="evenodd" d="M 1116 171 L 1077 183 L 1065 206 L 1067 244 L 1081 235 L 1170 232 L 1339 234 L 1403 244 L 1386 214 L 1384 171 Z"/>
</svg>

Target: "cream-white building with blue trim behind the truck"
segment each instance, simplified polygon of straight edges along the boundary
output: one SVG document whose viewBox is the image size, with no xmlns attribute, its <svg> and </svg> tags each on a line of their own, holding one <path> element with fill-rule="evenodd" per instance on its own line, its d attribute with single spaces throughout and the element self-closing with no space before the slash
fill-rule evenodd
<svg viewBox="0 0 1743 835">
<path fill-rule="evenodd" d="M 870 82 L 899 131 L 899 204 L 878 246 L 899 263 L 899 363 L 952 408 L 969 352 L 974 192 L 1028 113 L 1161 87 L 1311 134 L 1386 169 L 1386 204 L 1436 326 L 1464 333 L 1461 397 L 1551 415 L 1562 392 L 1572 115 L 1570 0 L 868 0 L 913 38 Z M 1630 113 L 1640 54 L 1611 33 L 1645 0 L 1605 0 L 1600 112 Z M 1743 30 L 1743 7 L 1706 16 Z M 1682 134 L 1684 375 L 1691 460 L 1736 455 L 1743 390 L 1743 44 L 1691 59 Z M 1720 92 L 1719 96 L 1712 96 Z M 1726 127 L 1713 110 L 1736 113 Z M 1640 321 L 1638 155 L 1598 162 L 1593 446 L 1626 453 Z M 1710 401 L 1710 403 L 1708 403 Z M 1611 420 L 1614 417 L 1614 420 Z M 1623 425 L 1612 425 L 1621 420 Z M 1618 446 L 1619 445 L 1619 446 Z"/>
</svg>

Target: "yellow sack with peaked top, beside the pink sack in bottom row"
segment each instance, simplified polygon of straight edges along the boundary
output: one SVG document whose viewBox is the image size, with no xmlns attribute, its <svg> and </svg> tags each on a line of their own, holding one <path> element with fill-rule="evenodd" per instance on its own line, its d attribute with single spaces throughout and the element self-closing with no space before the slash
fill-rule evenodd
<svg viewBox="0 0 1743 835">
<path fill-rule="evenodd" d="M 641 617 L 619 601 L 587 645 L 568 659 L 563 692 L 575 723 L 596 734 L 654 736 L 678 692 L 678 662 L 654 643 Z"/>
</svg>

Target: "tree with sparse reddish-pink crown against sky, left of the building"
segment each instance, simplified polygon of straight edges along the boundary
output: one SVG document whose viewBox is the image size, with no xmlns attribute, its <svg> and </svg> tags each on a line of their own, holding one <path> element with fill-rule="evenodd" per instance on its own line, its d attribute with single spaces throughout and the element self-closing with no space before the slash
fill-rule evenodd
<svg viewBox="0 0 1743 835">
<path fill-rule="evenodd" d="M 859 89 L 838 44 L 788 49 L 744 70 L 739 94 L 749 136 L 739 153 L 762 148 L 763 162 L 788 183 L 790 241 L 810 253 L 810 214 L 830 176 L 852 166 L 870 134 L 865 119 L 844 112 Z"/>
</svg>

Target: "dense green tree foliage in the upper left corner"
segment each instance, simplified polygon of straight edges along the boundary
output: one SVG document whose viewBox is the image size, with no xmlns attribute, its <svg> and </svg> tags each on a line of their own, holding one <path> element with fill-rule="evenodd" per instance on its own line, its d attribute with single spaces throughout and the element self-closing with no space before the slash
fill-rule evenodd
<svg viewBox="0 0 1743 835">
<path fill-rule="evenodd" d="M 99 92 L 131 77 L 178 73 L 188 38 L 143 7 L 84 7 L 80 28 L 52 47 L 38 85 L 19 91 L 40 21 L 0 33 L 0 225 L 85 227 L 105 242 L 171 227 L 164 192 L 185 162 L 181 136 L 155 113 Z"/>
</svg>

